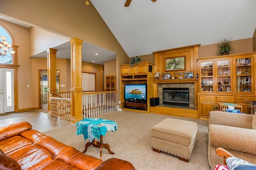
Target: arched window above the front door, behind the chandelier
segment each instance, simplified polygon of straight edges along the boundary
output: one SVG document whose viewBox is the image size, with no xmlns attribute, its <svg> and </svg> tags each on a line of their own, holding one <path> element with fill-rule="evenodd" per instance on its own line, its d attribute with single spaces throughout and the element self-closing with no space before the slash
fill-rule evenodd
<svg viewBox="0 0 256 170">
<path fill-rule="evenodd" d="M 0 25 L 0 45 L 3 44 L 3 39 L 1 37 L 6 37 L 6 40 L 9 44 L 12 44 L 12 37 L 11 35 L 8 33 L 8 31 L 6 31 L 6 29 Z M 2 55 L 2 53 L 4 53 L 4 50 L 1 48 L 0 49 L 0 63 L 1 64 L 12 64 L 12 55 L 10 54 L 10 51 L 12 51 L 12 47 L 10 47 L 10 49 L 6 52 L 5 55 Z"/>
</svg>

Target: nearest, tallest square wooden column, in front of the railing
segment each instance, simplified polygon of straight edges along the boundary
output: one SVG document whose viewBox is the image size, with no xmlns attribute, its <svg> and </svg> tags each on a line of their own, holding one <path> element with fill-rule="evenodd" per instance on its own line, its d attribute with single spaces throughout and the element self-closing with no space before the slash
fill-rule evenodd
<svg viewBox="0 0 256 170">
<path fill-rule="evenodd" d="M 71 44 L 71 122 L 82 120 L 82 43 L 72 38 Z"/>
</svg>

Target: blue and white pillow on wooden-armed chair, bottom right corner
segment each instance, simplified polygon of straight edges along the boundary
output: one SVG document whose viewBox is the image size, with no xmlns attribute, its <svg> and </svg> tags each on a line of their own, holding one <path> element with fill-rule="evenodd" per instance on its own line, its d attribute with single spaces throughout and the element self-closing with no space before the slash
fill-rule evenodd
<svg viewBox="0 0 256 170">
<path fill-rule="evenodd" d="M 226 159 L 228 170 L 256 170 L 256 165 L 235 157 Z"/>
</svg>

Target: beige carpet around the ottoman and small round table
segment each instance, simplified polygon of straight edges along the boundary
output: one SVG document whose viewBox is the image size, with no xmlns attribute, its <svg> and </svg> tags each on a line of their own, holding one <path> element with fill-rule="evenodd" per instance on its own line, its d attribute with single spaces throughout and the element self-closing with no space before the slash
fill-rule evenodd
<svg viewBox="0 0 256 170">
<path fill-rule="evenodd" d="M 109 154 L 102 149 L 102 160 L 120 158 L 131 162 L 136 170 L 210 170 L 208 165 L 208 121 L 184 117 L 173 117 L 160 114 L 135 113 L 130 111 L 112 112 L 99 118 L 116 121 L 117 131 L 107 131 L 103 143 L 110 144 L 115 152 Z M 194 121 L 198 124 L 198 138 L 188 163 L 178 157 L 161 152 L 154 152 L 150 145 L 150 129 L 165 118 Z M 85 144 L 83 135 L 76 135 L 76 125 L 67 125 L 44 134 L 83 151 Z M 86 154 L 100 158 L 100 149 L 90 146 Z"/>
</svg>

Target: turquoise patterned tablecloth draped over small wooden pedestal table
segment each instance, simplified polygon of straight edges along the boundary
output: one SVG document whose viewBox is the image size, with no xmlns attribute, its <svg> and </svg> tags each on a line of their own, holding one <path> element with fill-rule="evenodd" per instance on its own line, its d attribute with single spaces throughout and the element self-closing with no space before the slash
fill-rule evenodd
<svg viewBox="0 0 256 170">
<path fill-rule="evenodd" d="M 103 126 L 98 127 L 97 125 L 100 124 Z M 90 142 L 94 138 L 100 139 L 100 135 L 105 136 L 107 131 L 115 130 L 117 130 L 117 123 L 106 119 L 88 118 L 76 123 L 76 135 L 84 135 L 84 140 L 89 139 Z"/>
</svg>

